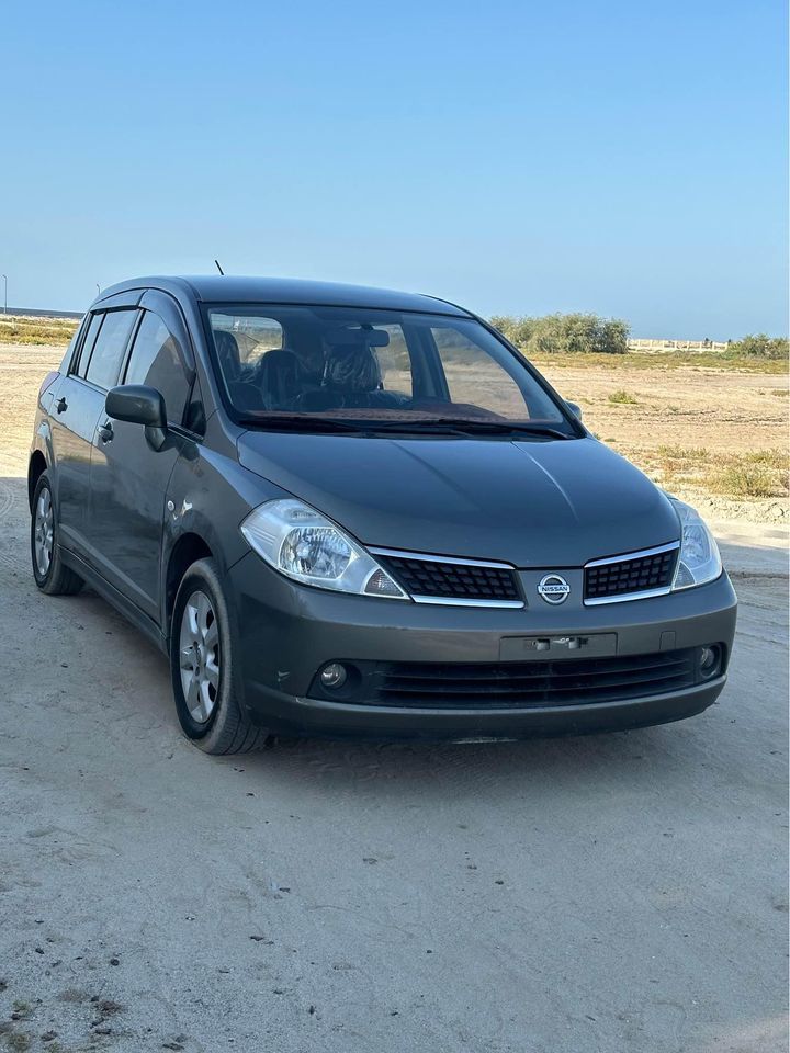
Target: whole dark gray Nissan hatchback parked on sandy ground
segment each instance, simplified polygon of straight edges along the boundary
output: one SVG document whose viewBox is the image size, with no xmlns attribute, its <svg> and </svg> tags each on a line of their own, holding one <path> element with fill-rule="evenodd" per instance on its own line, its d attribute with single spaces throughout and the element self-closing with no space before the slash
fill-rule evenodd
<svg viewBox="0 0 790 1053">
<path fill-rule="evenodd" d="M 155 641 L 212 754 L 691 716 L 735 630 L 716 544 L 578 418 L 430 296 L 124 282 L 41 388 L 35 580 Z"/>
</svg>

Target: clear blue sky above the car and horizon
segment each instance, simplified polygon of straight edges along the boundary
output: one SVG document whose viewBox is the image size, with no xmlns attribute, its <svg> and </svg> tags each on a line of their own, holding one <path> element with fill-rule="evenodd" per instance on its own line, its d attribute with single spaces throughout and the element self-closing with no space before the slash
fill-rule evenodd
<svg viewBox="0 0 790 1053">
<path fill-rule="evenodd" d="M 0 272 L 787 332 L 783 0 L 5 0 Z M 0 286 L 1 295 L 1 286 Z"/>
</svg>

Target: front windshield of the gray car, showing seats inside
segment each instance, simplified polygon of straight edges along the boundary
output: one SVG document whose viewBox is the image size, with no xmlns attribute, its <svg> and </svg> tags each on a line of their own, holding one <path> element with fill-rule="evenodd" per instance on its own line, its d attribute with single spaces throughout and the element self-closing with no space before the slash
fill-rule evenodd
<svg viewBox="0 0 790 1053">
<path fill-rule="evenodd" d="M 472 318 L 271 304 L 207 314 L 228 400 L 249 427 L 578 434 Z"/>
</svg>

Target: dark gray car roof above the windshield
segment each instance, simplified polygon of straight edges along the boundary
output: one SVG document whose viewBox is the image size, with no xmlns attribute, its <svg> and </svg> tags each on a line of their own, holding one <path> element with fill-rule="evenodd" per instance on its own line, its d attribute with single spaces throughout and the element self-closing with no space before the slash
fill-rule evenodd
<svg viewBox="0 0 790 1053">
<path fill-rule="evenodd" d="M 399 293 L 368 285 L 312 282 L 291 278 L 239 278 L 232 274 L 155 275 L 135 278 L 102 290 L 97 303 L 135 288 L 160 288 L 214 304 L 317 304 L 334 307 L 381 307 L 391 310 L 421 310 L 441 315 L 470 316 L 470 312 L 418 293 Z"/>
</svg>

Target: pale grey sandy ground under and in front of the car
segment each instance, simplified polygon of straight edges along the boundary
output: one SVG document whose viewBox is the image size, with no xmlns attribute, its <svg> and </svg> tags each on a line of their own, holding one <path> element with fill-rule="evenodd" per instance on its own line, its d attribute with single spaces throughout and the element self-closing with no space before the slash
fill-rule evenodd
<svg viewBox="0 0 790 1053">
<path fill-rule="evenodd" d="M 786 1048 L 786 530 L 718 526 L 738 636 L 691 721 L 207 758 L 143 637 L 33 586 L 40 372 L 0 372 L 0 1049 Z"/>
</svg>

